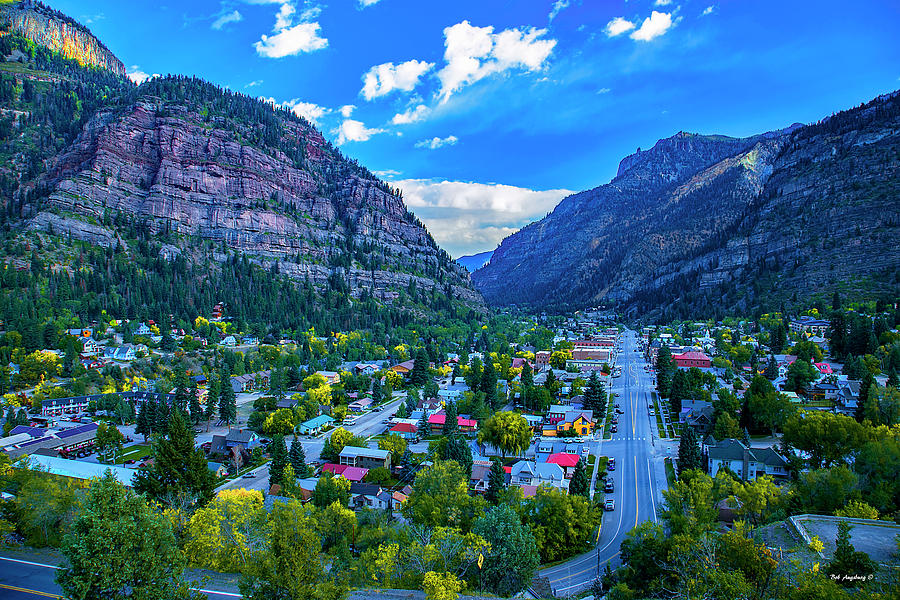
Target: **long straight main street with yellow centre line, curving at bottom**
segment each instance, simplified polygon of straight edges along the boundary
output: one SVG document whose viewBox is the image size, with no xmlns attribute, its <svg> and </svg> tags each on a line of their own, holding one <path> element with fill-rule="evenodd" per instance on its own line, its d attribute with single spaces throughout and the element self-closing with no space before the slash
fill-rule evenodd
<svg viewBox="0 0 900 600">
<path fill-rule="evenodd" d="M 666 485 L 663 459 L 669 450 L 668 445 L 660 444 L 655 421 L 650 421 L 651 376 L 644 370 L 643 356 L 635 352 L 637 340 L 633 331 L 622 334 L 622 352 L 617 360 L 622 375 L 613 379 L 609 391 L 619 394 L 616 402 L 625 412 L 619 415 L 618 432 L 599 444 L 601 455 L 616 459 L 616 470 L 610 472 L 615 490 L 605 495 L 615 500 L 616 508 L 604 512 L 594 550 L 540 572 L 550 580 L 557 596 L 574 594 L 589 586 L 607 563 L 615 567 L 619 546 L 627 533 L 643 521 L 658 520 L 660 486 Z M 597 488 L 603 499 L 600 482 Z"/>
</svg>

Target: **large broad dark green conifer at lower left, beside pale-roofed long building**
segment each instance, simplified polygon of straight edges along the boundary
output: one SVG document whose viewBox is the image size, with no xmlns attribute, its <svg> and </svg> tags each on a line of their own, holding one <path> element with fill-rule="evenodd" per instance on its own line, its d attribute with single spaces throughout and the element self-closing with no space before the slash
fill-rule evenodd
<svg viewBox="0 0 900 600">
<path fill-rule="evenodd" d="M 167 506 L 205 504 L 212 499 L 215 475 L 181 411 L 173 410 L 165 437 L 153 444 L 153 463 L 138 469 L 134 489 Z"/>
</svg>

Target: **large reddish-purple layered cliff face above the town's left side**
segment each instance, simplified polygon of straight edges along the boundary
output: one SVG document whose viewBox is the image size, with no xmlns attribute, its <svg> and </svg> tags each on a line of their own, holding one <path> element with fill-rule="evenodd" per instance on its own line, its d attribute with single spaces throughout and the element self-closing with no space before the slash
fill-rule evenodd
<svg viewBox="0 0 900 600">
<path fill-rule="evenodd" d="M 184 78 L 154 85 L 212 93 Z M 402 200 L 309 123 L 264 108 L 277 135 L 250 143 L 263 125 L 152 91 L 87 123 L 50 167 L 44 184 L 52 191 L 28 227 L 105 246 L 116 243 L 116 224 L 137 222 L 171 238 L 168 255 L 207 243 L 316 286 L 338 274 L 356 296 L 412 281 L 482 305 L 465 269 Z M 298 148 L 302 156 L 286 153 Z"/>
</svg>

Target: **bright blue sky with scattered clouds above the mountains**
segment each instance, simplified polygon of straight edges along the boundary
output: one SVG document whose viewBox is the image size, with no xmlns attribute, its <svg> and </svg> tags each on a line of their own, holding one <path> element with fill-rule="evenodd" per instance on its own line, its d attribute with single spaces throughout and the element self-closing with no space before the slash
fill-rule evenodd
<svg viewBox="0 0 900 600">
<path fill-rule="evenodd" d="M 900 88 L 896 0 L 50 0 L 135 78 L 289 106 L 453 256 L 678 131 L 744 136 Z"/>
</svg>

